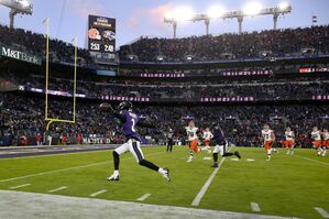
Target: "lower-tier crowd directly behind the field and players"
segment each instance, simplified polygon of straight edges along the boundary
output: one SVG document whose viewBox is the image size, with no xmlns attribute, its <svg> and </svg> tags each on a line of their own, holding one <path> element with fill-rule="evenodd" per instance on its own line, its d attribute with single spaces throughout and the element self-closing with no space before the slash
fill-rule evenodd
<svg viewBox="0 0 329 219">
<path fill-rule="evenodd" d="M 22 134 L 34 138 L 45 133 L 44 99 L 26 98 L 19 94 L 1 94 L 0 127 L 6 132 L 19 138 Z M 53 123 L 51 134 L 62 134 L 76 139 L 78 135 L 97 134 L 122 139 L 122 132 L 111 116 L 100 112 L 97 102 L 78 101 L 76 123 Z M 50 100 L 50 118 L 73 119 L 73 103 L 67 100 Z M 284 128 L 290 125 L 297 134 L 298 145 L 310 143 L 309 133 L 312 125 L 328 127 L 328 105 L 261 105 L 261 106 L 145 106 L 138 105 L 134 110 L 156 123 L 157 129 L 141 128 L 143 136 L 151 135 L 157 143 L 164 141 L 168 129 L 175 131 L 176 139 L 182 139 L 186 124 L 184 118 L 195 118 L 201 129 L 218 122 L 231 142 L 238 145 L 260 146 L 260 130 L 265 122 L 271 123 L 278 142 L 283 140 Z M 327 113 L 327 114 L 326 114 Z"/>
</svg>

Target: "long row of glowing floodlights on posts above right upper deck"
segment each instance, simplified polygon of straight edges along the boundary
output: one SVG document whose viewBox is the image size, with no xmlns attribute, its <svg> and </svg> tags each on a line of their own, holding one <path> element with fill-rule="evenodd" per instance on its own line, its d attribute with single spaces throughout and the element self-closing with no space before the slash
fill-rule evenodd
<svg viewBox="0 0 329 219">
<path fill-rule="evenodd" d="M 186 8 L 185 8 L 186 9 Z M 213 19 L 237 19 L 239 23 L 239 33 L 242 33 L 242 23 L 245 17 L 273 15 L 273 29 L 277 29 L 277 19 L 281 14 L 290 13 L 292 6 L 282 2 L 277 7 L 264 8 L 259 2 L 250 2 L 243 10 L 224 11 L 220 6 L 211 7 L 207 13 L 193 13 L 191 10 L 175 10 L 174 13 L 167 13 L 164 22 L 173 25 L 174 39 L 176 37 L 177 23 L 182 21 L 204 21 L 206 24 L 206 34 L 209 34 L 210 20 Z"/>
</svg>

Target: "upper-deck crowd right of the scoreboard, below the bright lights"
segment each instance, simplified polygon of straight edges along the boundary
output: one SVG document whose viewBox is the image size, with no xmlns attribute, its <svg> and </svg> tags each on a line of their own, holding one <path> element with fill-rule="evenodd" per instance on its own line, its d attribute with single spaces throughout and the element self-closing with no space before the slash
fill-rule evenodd
<svg viewBox="0 0 329 219">
<path fill-rule="evenodd" d="M 329 26 L 266 30 L 243 34 L 204 35 L 184 39 L 141 37 L 120 48 L 121 61 L 166 62 L 319 55 L 329 53 Z M 134 56 L 132 56 L 134 55 Z M 134 61 L 134 59 L 133 59 Z"/>
</svg>

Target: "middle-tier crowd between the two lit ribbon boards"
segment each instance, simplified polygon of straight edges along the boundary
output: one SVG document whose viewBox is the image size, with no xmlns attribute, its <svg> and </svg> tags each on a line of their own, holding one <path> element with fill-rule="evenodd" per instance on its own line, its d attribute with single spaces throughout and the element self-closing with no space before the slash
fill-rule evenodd
<svg viewBox="0 0 329 219">
<path fill-rule="evenodd" d="M 29 75 L 8 73 L 6 77 L 17 85 L 22 85 L 26 90 L 32 88 L 44 89 L 44 78 Z M 139 80 L 125 83 L 108 81 L 96 83 L 78 80 L 77 94 L 92 99 L 105 97 L 138 97 L 150 98 L 151 101 L 200 101 L 202 98 L 232 98 L 252 97 L 254 100 L 310 100 L 317 95 L 329 95 L 327 80 L 275 81 L 262 83 L 259 80 L 245 81 L 212 81 L 213 84 L 200 85 L 153 85 L 140 84 Z M 74 83 L 64 78 L 51 78 L 50 90 L 73 94 Z"/>
</svg>

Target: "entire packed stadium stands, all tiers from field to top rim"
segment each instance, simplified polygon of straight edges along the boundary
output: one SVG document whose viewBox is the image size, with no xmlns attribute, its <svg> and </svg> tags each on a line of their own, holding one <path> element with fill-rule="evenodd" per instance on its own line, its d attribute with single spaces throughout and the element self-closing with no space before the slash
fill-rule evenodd
<svg viewBox="0 0 329 219">
<path fill-rule="evenodd" d="M 42 34 L 6 26 L 0 32 L 2 50 L 44 58 Z M 260 146 L 261 127 L 268 122 L 278 143 L 290 125 L 297 145 L 309 146 L 312 125 L 329 124 L 328 35 L 328 26 L 314 26 L 141 39 L 122 46 L 113 65 L 97 64 L 79 50 L 76 123 L 53 123 L 48 134 L 53 140 L 67 136 L 66 143 L 122 142 L 120 129 L 98 106 L 129 100 L 146 119 L 157 121 L 156 130 L 140 130 L 144 142 L 164 142 L 169 128 L 183 140 L 188 117 L 201 129 L 218 121 L 238 145 Z M 51 41 L 51 118 L 73 117 L 73 52 L 72 45 Z M 37 133 L 45 143 L 44 63 L 0 55 L 0 145 L 35 144 Z"/>
</svg>

